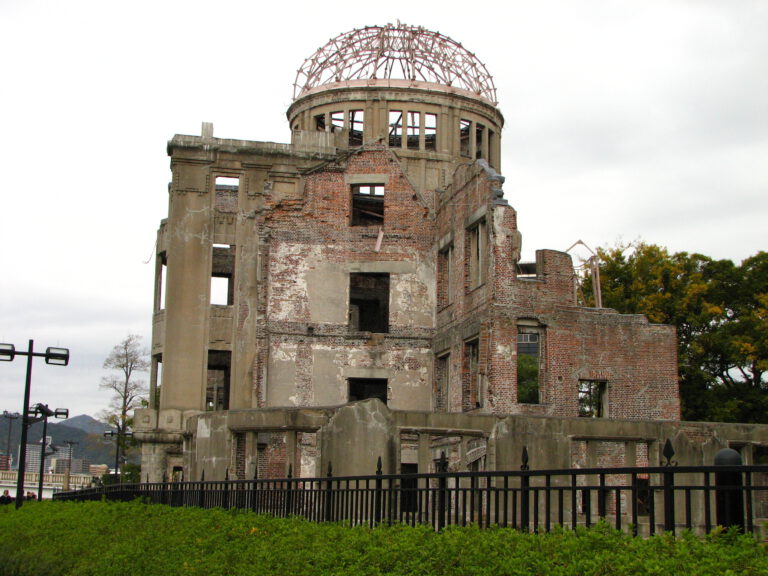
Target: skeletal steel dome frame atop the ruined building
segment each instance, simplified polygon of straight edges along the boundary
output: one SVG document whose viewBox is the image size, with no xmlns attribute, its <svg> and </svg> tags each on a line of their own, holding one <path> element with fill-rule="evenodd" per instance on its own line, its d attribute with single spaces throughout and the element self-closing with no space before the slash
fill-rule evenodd
<svg viewBox="0 0 768 576">
<path fill-rule="evenodd" d="M 400 22 L 329 40 L 299 68 L 293 99 L 327 84 L 388 79 L 442 84 L 497 104 L 493 78 L 474 54 L 439 32 Z"/>
</svg>

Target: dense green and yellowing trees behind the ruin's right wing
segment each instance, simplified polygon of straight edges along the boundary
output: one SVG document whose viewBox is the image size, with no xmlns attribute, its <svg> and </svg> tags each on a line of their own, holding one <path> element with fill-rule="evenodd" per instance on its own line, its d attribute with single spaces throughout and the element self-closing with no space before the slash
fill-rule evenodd
<svg viewBox="0 0 768 576">
<path fill-rule="evenodd" d="M 598 253 L 604 306 L 677 327 L 683 418 L 768 422 L 768 254 L 736 266 L 642 242 Z"/>
</svg>

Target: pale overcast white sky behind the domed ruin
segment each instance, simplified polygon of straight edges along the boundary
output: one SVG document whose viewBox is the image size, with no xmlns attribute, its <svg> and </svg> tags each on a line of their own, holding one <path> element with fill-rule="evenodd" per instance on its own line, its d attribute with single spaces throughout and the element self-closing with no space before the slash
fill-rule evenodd
<svg viewBox="0 0 768 576">
<path fill-rule="evenodd" d="M 304 58 L 398 19 L 494 75 L 526 259 L 578 239 L 766 248 L 763 0 L 0 0 L 0 342 L 72 352 L 35 361 L 33 403 L 96 414 L 111 347 L 149 342 L 166 141 L 202 121 L 288 141 Z M 23 358 L 0 364 L 0 409 L 23 382 Z"/>
</svg>

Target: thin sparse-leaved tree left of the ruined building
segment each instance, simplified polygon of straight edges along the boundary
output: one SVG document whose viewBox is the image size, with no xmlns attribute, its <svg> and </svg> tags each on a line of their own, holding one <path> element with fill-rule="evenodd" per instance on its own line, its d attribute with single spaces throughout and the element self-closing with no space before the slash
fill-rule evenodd
<svg viewBox="0 0 768 576">
<path fill-rule="evenodd" d="M 100 389 L 113 393 L 109 408 L 101 416 L 104 422 L 116 428 L 116 467 L 120 451 L 125 453 L 128 448 L 126 432 L 132 424 L 130 413 L 146 402 L 146 383 L 138 380 L 136 374 L 149 370 L 148 355 L 149 351 L 141 346 L 141 336 L 129 334 L 104 360 L 104 369 L 116 373 L 104 376 L 99 385 Z"/>
</svg>

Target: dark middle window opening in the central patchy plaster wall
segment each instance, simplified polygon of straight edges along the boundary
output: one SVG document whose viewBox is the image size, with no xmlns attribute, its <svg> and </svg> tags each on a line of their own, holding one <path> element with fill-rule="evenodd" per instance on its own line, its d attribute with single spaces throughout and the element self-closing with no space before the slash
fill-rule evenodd
<svg viewBox="0 0 768 576">
<path fill-rule="evenodd" d="M 349 327 L 353 332 L 389 332 L 389 274 L 349 275 Z"/>
</svg>

